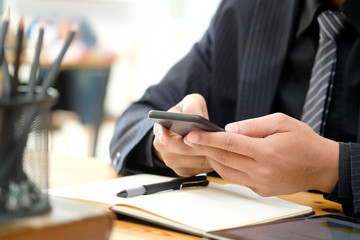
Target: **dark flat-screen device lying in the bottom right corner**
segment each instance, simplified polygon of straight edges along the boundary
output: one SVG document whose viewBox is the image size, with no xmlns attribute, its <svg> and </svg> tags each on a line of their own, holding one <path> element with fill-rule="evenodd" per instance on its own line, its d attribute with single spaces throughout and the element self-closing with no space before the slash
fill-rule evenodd
<svg viewBox="0 0 360 240">
<path fill-rule="evenodd" d="M 360 239 L 360 219 L 328 214 L 212 231 L 203 239 Z"/>
</svg>

